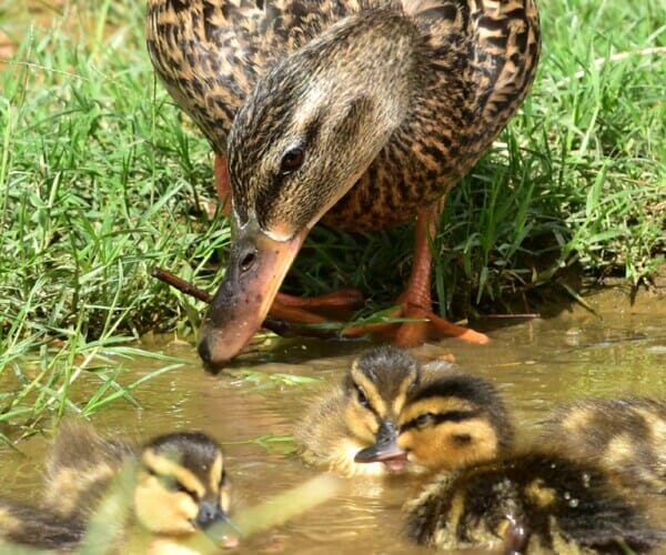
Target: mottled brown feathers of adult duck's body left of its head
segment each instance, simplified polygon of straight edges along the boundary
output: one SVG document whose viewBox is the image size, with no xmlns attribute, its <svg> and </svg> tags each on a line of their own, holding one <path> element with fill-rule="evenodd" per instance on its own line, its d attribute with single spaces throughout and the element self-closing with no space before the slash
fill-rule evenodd
<svg viewBox="0 0 666 555">
<path fill-rule="evenodd" d="M 256 80 L 264 11 L 249 0 L 152 0 L 145 39 L 175 102 L 224 153 L 226 133 Z"/>
</svg>

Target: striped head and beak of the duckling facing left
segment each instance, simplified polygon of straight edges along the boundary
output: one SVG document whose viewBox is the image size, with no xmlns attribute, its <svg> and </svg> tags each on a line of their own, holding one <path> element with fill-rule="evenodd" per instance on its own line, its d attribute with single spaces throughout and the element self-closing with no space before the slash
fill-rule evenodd
<svg viewBox="0 0 666 555">
<path fill-rule="evenodd" d="M 377 443 L 359 462 L 402 460 L 432 471 L 491 461 L 508 450 L 513 428 L 504 403 L 487 381 L 441 377 L 416 390 L 398 418 L 394 442 Z"/>
</svg>

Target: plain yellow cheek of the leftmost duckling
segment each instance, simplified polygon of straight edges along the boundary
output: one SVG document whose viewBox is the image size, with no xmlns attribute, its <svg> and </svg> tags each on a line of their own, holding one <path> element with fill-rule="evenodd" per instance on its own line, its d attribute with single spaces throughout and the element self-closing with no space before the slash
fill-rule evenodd
<svg viewBox="0 0 666 555">
<path fill-rule="evenodd" d="M 186 493 L 170 492 L 150 476 L 134 492 L 137 519 L 155 534 L 191 534 L 199 506 Z"/>
</svg>

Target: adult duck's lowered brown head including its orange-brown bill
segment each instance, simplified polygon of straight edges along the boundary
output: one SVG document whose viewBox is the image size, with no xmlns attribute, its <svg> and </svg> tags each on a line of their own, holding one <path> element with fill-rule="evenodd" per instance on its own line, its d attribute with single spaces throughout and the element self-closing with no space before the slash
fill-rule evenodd
<svg viewBox="0 0 666 555">
<path fill-rule="evenodd" d="M 209 369 L 250 341 L 307 232 L 402 123 L 415 36 L 398 13 L 346 18 L 278 63 L 236 113 L 224 149 L 235 235 L 199 340 Z"/>
</svg>

